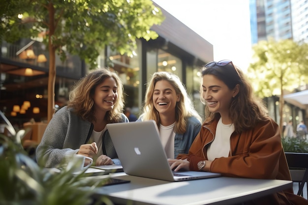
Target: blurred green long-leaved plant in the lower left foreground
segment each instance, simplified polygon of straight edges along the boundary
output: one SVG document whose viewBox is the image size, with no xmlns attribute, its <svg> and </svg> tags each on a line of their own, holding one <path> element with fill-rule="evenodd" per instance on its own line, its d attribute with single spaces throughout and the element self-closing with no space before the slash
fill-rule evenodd
<svg viewBox="0 0 308 205">
<path fill-rule="evenodd" d="M 90 181 L 85 173 L 41 168 L 17 139 L 0 135 L 0 205 L 92 204 L 91 196 L 104 180 Z M 105 197 L 100 202 L 112 204 Z"/>
</svg>

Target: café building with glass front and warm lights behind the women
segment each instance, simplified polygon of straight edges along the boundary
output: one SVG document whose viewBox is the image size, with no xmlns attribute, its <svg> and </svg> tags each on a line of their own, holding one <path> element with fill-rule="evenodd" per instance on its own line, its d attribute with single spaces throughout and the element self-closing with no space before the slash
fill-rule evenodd
<svg viewBox="0 0 308 205">
<path fill-rule="evenodd" d="M 163 8 L 165 21 L 152 29 L 159 37 L 146 41 L 137 39 L 134 55 L 120 55 L 109 47 L 98 57 L 99 67 L 110 67 L 123 80 L 125 106 L 139 115 L 146 84 L 155 71 L 177 74 L 203 117 L 200 102 L 200 69 L 213 60 L 213 45 L 189 29 Z M 46 58 L 42 59 L 44 55 Z M 47 119 L 48 51 L 38 41 L 21 39 L 15 44 L 3 42 L 0 52 L 0 110 L 16 126 L 33 118 Z M 65 105 L 71 87 L 89 72 L 77 56 L 68 54 L 62 62 L 56 59 L 56 109 Z M 30 105 L 29 105 L 30 104 Z"/>
</svg>

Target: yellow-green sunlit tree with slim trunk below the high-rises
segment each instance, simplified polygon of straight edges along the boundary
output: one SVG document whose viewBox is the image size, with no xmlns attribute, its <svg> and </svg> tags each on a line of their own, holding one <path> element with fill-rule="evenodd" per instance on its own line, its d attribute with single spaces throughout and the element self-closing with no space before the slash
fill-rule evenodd
<svg viewBox="0 0 308 205">
<path fill-rule="evenodd" d="M 279 125 L 282 128 L 283 90 L 293 91 L 307 84 L 308 44 L 290 39 L 260 41 L 253 46 L 254 56 L 247 75 L 260 97 L 280 95 Z"/>
</svg>

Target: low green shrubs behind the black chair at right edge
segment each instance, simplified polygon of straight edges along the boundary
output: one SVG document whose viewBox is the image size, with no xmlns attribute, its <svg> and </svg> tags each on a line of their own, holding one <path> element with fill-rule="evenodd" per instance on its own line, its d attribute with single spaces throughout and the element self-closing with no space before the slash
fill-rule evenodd
<svg viewBox="0 0 308 205">
<path fill-rule="evenodd" d="M 300 138 L 281 138 L 281 143 L 285 152 L 308 153 L 308 142 Z"/>
</svg>

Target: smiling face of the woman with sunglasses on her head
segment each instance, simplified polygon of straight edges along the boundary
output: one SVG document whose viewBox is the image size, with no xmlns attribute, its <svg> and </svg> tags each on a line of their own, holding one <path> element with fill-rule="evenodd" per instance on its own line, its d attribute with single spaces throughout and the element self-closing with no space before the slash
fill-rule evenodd
<svg viewBox="0 0 308 205">
<path fill-rule="evenodd" d="M 219 113 L 222 120 L 225 119 L 225 122 L 229 121 L 231 100 L 237 95 L 239 91 L 238 86 L 230 89 L 214 75 L 204 75 L 202 79 L 202 97 L 209 111 Z"/>
</svg>

